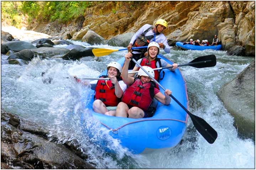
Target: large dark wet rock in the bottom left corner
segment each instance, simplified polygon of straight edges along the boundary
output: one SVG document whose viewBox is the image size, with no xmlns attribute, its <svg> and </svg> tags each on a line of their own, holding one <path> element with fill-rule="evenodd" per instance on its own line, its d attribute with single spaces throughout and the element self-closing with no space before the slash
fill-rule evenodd
<svg viewBox="0 0 256 170">
<path fill-rule="evenodd" d="M 1 168 L 95 169 L 75 147 L 50 142 L 47 134 L 46 128 L 1 111 Z"/>
</svg>

